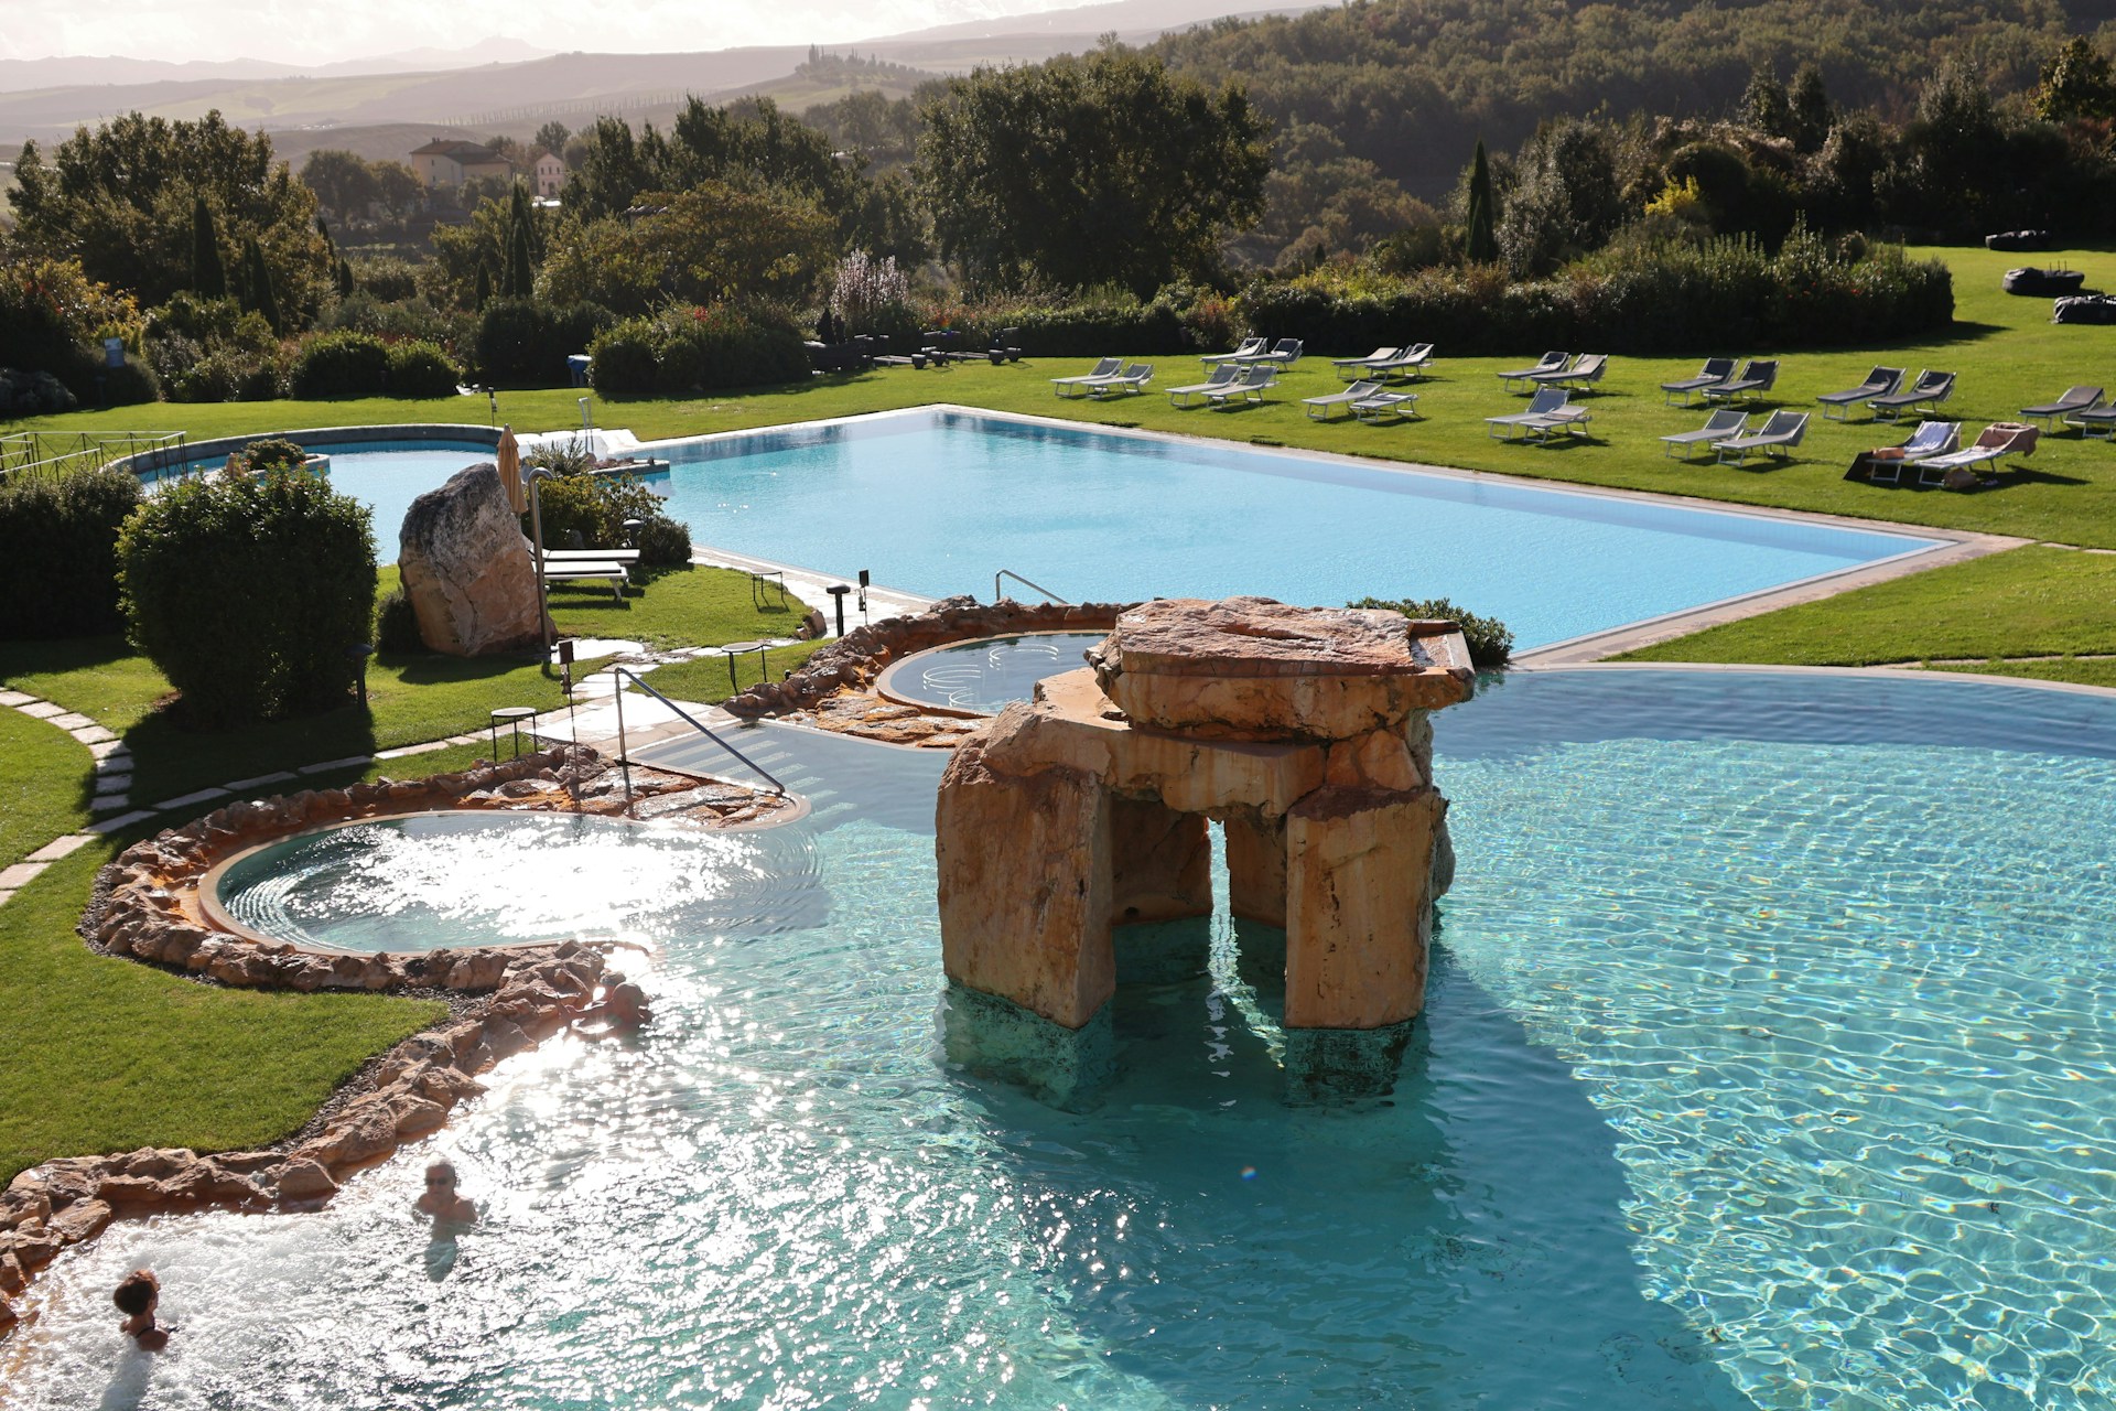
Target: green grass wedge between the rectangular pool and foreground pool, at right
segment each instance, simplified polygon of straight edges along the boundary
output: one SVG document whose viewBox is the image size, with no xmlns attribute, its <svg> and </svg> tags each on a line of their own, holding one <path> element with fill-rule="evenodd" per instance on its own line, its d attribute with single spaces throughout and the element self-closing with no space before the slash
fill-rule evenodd
<svg viewBox="0 0 2116 1411">
<path fill-rule="evenodd" d="M 2103 654 L 2116 652 L 2112 603 L 2116 554 L 2029 546 L 1729 622 L 1623 660 L 1873 666 Z"/>
</svg>

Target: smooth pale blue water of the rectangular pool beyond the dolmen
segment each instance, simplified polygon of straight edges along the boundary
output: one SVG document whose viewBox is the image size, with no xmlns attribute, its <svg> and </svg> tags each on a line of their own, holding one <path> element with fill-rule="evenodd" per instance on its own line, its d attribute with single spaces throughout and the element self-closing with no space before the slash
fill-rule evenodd
<svg viewBox="0 0 2116 1411">
<path fill-rule="evenodd" d="M 1073 601 L 1452 597 L 1521 647 L 1930 544 L 961 413 L 654 451 L 696 542 L 846 582 L 984 597 L 1011 569 Z"/>
</svg>

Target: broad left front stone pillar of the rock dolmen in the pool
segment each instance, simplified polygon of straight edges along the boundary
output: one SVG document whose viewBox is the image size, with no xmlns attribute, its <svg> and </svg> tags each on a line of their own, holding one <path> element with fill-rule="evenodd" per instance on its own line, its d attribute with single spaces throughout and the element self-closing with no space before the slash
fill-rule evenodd
<svg viewBox="0 0 2116 1411">
<path fill-rule="evenodd" d="M 1081 770 L 997 774 L 965 740 L 935 806 L 948 977 L 1081 1028 L 1117 990 L 1109 795 Z"/>
</svg>

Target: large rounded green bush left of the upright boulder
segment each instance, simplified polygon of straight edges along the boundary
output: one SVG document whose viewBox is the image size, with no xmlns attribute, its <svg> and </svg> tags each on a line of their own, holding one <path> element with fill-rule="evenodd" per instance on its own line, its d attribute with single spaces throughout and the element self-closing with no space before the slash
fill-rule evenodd
<svg viewBox="0 0 2116 1411">
<path fill-rule="evenodd" d="M 375 628 L 375 531 L 366 506 L 298 470 L 193 476 L 125 523 L 118 586 L 186 723 L 328 711 L 351 700 L 347 649 Z"/>
</svg>

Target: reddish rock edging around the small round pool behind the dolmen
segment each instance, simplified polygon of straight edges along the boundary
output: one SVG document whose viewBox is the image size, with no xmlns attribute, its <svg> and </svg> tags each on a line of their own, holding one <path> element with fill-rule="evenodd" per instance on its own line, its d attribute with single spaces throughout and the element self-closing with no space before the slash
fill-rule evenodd
<svg viewBox="0 0 2116 1411">
<path fill-rule="evenodd" d="M 844 688 L 865 690 L 897 658 L 978 637 L 1011 633 L 1062 633 L 1111 628 L 1132 603 L 978 603 L 973 597 L 942 599 L 923 613 L 882 618 L 857 626 L 829 643 L 785 681 L 762 681 L 724 702 L 741 717 L 806 711 Z"/>
</svg>

